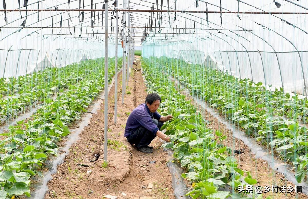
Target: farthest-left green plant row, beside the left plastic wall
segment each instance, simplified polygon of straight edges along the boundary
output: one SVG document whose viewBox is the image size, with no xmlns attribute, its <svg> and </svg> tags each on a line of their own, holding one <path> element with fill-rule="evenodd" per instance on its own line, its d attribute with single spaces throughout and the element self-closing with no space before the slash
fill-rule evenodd
<svg viewBox="0 0 308 199">
<path fill-rule="evenodd" d="M 16 116 L 18 111 L 25 111 L 25 107 L 34 102 L 43 102 L 57 91 L 62 92 L 77 80 L 88 76 L 91 65 L 101 61 L 102 59 L 86 60 L 60 68 L 49 67 L 17 78 L 2 78 L 0 89 L 4 89 L 8 95 L 2 97 L 0 94 L 0 121 Z"/>
</svg>

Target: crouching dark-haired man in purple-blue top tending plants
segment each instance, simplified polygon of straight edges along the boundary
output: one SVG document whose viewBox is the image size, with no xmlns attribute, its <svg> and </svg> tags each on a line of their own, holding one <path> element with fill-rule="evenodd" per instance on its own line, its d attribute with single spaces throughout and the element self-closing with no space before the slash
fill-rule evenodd
<svg viewBox="0 0 308 199">
<path fill-rule="evenodd" d="M 150 93 L 145 98 L 145 103 L 137 106 L 126 121 L 124 136 L 137 150 L 152 153 L 153 147 L 148 146 L 152 140 L 159 138 L 170 142 L 170 137 L 160 131 L 164 122 L 172 119 L 172 115 L 162 116 L 156 110 L 161 98 L 156 93 Z"/>
</svg>

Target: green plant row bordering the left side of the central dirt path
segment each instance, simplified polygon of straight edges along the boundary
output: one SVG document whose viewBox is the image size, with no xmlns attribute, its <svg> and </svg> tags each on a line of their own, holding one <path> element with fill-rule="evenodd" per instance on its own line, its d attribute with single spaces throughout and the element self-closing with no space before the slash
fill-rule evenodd
<svg viewBox="0 0 308 199">
<path fill-rule="evenodd" d="M 104 61 L 92 61 L 84 62 L 91 65 L 85 67 L 87 76 L 78 76 L 80 80 L 55 100 L 46 98 L 31 119 L 19 121 L 17 126 L 10 126 L 10 132 L 1 134 L 6 138 L 0 141 L 0 199 L 22 194 L 30 196 L 30 177 L 42 176 L 48 155 L 57 154 L 57 142 L 70 132 L 67 124 L 79 119 L 103 90 Z M 108 60 L 108 82 L 115 74 L 114 62 L 114 58 Z"/>
</svg>

